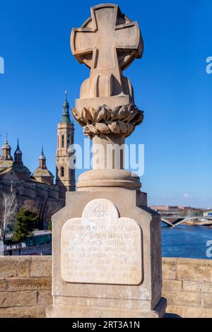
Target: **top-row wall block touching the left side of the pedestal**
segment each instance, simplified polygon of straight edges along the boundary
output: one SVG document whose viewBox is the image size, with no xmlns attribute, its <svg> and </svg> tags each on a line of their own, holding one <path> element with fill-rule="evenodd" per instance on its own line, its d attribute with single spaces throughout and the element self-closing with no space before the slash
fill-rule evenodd
<svg viewBox="0 0 212 332">
<path fill-rule="evenodd" d="M 52 275 L 52 257 L 32 257 L 30 263 L 30 277 L 50 277 Z"/>
</svg>

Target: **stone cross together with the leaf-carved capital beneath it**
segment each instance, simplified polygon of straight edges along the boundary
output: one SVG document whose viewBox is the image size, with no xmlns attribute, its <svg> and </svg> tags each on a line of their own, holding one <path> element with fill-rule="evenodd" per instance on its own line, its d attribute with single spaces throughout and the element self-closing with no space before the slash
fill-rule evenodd
<svg viewBox="0 0 212 332">
<path fill-rule="evenodd" d="M 71 32 L 71 51 L 90 68 L 90 78 L 81 85 L 73 117 L 86 135 L 124 134 L 129 136 L 143 120 L 134 104 L 134 93 L 123 76 L 143 54 L 139 25 L 131 22 L 119 6 L 101 4 L 90 8 L 91 16 Z"/>
</svg>

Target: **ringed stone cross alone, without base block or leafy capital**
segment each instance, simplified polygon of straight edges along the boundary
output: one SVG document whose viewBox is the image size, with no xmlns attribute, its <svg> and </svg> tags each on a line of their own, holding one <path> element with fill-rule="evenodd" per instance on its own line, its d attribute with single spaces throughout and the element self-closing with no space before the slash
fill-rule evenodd
<svg viewBox="0 0 212 332">
<path fill-rule="evenodd" d="M 98 5 L 90 11 L 91 17 L 82 27 L 73 28 L 71 32 L 71 50 L 80 63 L 90 67 L 87 97 L 99 97 L 102 94 L 96 90 L 98 80 L 103 77 L 100 89 L 101 85 L 110 87 L 108 81 L 112 78 L 122 86 L 122 69 L 141 57 L 143 47 L 138 23 L 121 14 L 117 5 Z M 117 51 L 121 52 L 121 57 Z M 106 95 L 110 95 L 110 91 Z"/>
</svg>

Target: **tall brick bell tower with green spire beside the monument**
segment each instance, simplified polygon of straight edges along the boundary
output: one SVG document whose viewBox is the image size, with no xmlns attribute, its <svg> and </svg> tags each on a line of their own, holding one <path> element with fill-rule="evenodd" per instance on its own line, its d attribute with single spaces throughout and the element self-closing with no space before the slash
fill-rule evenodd
<svg viewBox="0 0 212 332">
<path fill-rule="evenodd" d="M 73 124 L 69 115 L 69 102 L 65 92 L 63 114 L 57 125 L 56 184 L 61 197 L 66 191 L 75 191 L 75 170 L 69 167 L 69 146 L 73 144 Z"/>
</svg>

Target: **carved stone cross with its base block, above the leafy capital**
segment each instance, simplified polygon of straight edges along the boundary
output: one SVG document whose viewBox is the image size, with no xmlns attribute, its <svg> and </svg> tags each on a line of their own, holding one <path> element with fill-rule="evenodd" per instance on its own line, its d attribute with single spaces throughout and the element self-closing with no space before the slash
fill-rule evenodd
<svg viewBox="0 0 212 332">
<path fill-rule="evenodd" d="M 122 15 L 118 6 L 91 8 L 91 17 L 71 33 L 71 49 L 90 68 L 77 107 L 99 107 L 100 102 L 107 102 L 112 108 L 134 101 L 131 83 L 122 70 L 141 57 L 143 42 L 138 23 Z"/>
</svg>

